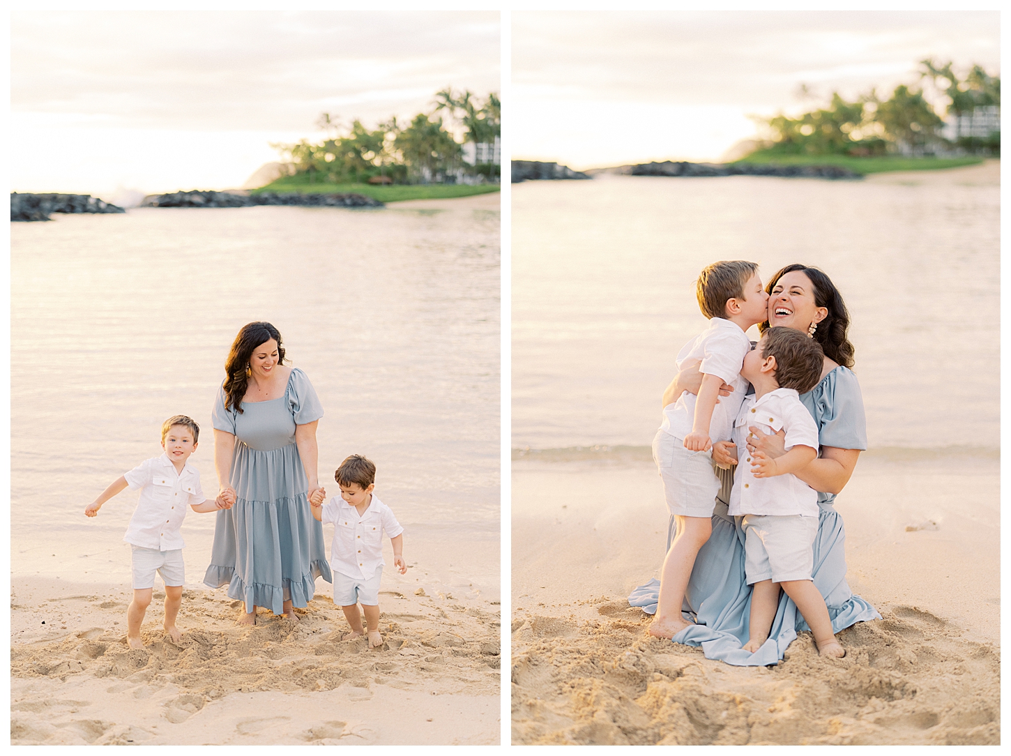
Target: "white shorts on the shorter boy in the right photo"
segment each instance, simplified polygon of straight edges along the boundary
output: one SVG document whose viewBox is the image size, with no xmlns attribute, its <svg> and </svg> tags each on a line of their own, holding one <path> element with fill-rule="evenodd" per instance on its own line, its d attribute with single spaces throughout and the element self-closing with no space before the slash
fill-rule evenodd
<svg viewBox="0 0 1011 756">
<path fill-rule="evenodd" d="M 744 574 L 748 585 L 762 580 L 810 580 L 818 535 L 814 514 L 745 514 Z"/>
</svg>

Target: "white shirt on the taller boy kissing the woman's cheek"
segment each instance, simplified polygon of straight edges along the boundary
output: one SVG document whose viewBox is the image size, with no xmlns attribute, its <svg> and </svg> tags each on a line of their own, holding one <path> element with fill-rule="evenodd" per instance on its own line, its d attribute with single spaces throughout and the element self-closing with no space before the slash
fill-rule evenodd
<svg viewBox="0 0 1011 756">
<path fill-rule="evenodd" d="M 744 358 L 750 351 L 751 341 L 740 325 L 722 317 L 713 317 L 709 321 L 709 327 L 677 353 L 678 370 L 690 363 L 700 363 L 699 370 L 703 373 L 719 376 L 734 387 L 733 393 L 721 396 L 713 408 L 713 419 L 709 423 L 709 437 L 713 443 L 730 441 L 734 418 L 748 387 L 748 382 L 741 378 L 740 372 Z M 674 403 L 667 404 L 663 408 L 660 430 L 676 439 L 683 439 L 692 433 L 697 399 L 695 394 L 684 391 Z"/>
</svg>

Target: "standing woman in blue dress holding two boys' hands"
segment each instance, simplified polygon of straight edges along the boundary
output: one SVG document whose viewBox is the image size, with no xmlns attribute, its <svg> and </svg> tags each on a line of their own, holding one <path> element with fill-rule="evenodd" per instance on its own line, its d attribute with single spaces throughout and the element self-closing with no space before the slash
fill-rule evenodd
<svg viewBox="0 0 1011 756">
<path fill-rule="evenodd" d="M 214 467 L 235 504 L 217 512 L 204 583 L 227 584 L 246 604 L 297 620 L 293 606 L 312 598 L 315 578 L 332 581 L 323 527 L 308 497 L 316 477 L 316 423 L 323 416 L 309 379 L 284 366 L 281 335 L 269 322 L 247 323 L 225 361 L 214 402 Z"/>
</svg>

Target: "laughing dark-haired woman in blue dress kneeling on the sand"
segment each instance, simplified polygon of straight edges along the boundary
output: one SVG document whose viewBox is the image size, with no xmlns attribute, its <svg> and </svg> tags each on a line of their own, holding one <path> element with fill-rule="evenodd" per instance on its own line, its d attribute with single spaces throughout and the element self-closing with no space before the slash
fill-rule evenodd
<svg viewBox="0 0 1011 756">
<path fill-rule="evenodd" d="M 818 459 L 796 475 L 819 491 L 812 578 L 825 597 L 832 630 L 838 633 L 854 623 L 881 619 L 878 610 L 854 595 L 846 583 L 845 532 L 842 517 L 832 505 L 852 475 L 860 452 L 867 448 L 863 400 L 856 376 L 850 370 L 853 347 L 846 338 L 849 314 L 839 291 L 817 268 L 788 265 L 772 276 L 766 291 L 768 321 L 760 329 L 786 326 L 803 330 L 817 339 L 825 352 L 820 382 L 801 395 L 801 401 L 818 424 L 821 449 Z M 664 392 L 664 404 L 674 401 L 682 391 L 697 393 L 701 377 L 698 369 L 679 373 Z M 782 432 L 773 436 L 757 432 L 748 452 L 756 448 L 771 457 L 784 454 Z M 729 461 L 716 456 L 714 460 Z M 733 470 L 717 469 L 717 473 L 723 485 L 713 514 L 713 534 L 699 551 L 684 594 L 683 610 L 695 624 L 672 640 L 702 646 L 708 658 L 729 664 L 775 664 L 797 638 L 798 631 L 806 631 L 808 626 L 794 602 L 785 593 L 780 594 L 768 640 L 753 654 L 742 648 L 748 642 L 751 609 L 751 588 L 744 577 L 744 532 L 727 514 Z M 668 547 L 675 535 L 671 517 Z M 658 596 L 659 581 L 654 579 L 636 588 L 629 596 L 629 603 L 654 613 Z"/>
</svg>

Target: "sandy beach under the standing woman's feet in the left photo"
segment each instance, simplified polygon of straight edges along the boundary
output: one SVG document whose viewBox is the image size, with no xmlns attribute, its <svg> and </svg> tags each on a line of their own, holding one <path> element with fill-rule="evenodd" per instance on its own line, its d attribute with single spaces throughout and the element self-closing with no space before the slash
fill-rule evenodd
<svg viewBox="0 0 1011 756">
<path fill-rule="evenodd" d="M 379 650 L 340 640 L 347 623 L 320 580 L 300 622 L 261 609 L 255 628 L 236 625 L 223 589 L 187 585 L 178 644 L 159 583 L 132 651 L 126 584 L 15 578 L 11 744 L 497 743 L 497 601 L 391 582 Z"/>
</svg>

